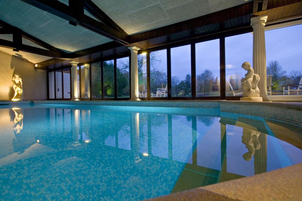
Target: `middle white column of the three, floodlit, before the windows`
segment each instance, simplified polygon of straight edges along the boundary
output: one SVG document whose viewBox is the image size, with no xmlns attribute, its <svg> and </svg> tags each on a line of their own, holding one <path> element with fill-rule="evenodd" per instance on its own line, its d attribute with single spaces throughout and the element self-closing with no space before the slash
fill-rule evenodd
<svg viewBox="0 0 302 201">
<path fill-rule="evenodd" d="M 140 100 L 138 95 L 138 68 L 137 68 L 137 51 L 140 49 L 136 46 L 128 47 L 131 50 L 131 99 Z"/>
</svg>

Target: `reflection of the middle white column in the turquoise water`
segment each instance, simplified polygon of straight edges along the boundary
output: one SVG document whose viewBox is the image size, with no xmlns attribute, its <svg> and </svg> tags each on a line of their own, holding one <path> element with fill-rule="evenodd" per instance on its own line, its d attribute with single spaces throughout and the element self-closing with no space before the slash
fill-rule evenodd
<svg viewBox="0 0 302 201">
<path fill-rule="evenodd" d="M 139 113 L 131 113 L 131 138 L 133 162 L 138 163 L 140 159 L 140 115 Z"/>
</svg>

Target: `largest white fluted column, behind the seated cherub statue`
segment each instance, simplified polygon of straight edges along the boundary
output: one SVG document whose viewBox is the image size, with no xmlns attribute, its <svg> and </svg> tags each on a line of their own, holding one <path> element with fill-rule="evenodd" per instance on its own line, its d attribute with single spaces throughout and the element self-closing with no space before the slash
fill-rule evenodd
<svg viewBox="0 0 302 201">
<path fill-rule="evenodd" d="M 266 53 L 265 53 L 265 34 L 264 26 L 267 15 L 251 18 L 253 27 L 253 68 L 255 73 L 260 76 L 258 87 L 260 96 L 264 101 L 268 101 L 266 96 Z"/>
</svg>

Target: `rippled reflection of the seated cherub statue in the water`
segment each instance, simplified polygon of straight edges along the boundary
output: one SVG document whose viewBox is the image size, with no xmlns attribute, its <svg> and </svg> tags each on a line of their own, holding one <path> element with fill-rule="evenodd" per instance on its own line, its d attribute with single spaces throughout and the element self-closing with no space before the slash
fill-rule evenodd
<svg viewBox="0 0 302 201">
<path fill-rule="evenodd" d="M 246 145 L 248 152 L 242 155 L 243 159 L 250 161 L 255 154 L 255 150 L 260 149 L 260 143 L 258 137 L 260 135 L 259 131 L 252 130 L 249 128 L 243 128 L 242 132 L 242 143 Z"/>
</svg>

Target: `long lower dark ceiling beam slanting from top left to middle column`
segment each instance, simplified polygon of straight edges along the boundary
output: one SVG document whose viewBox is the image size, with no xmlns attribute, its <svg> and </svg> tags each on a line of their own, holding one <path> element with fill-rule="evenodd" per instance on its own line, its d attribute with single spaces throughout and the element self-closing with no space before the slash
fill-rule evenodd
<svg viewBox="0 0 302 201">
<path fill-rule="evenodd" d="M 76 8 L 74 11 L 75 4 L 68 6 L 58 0 L 21 0 L 22 2 L 28 3 L 36 8 L 39 8 L 43 11 L 47 11 L 51 14 L 54 14 L 58 17 L 61 17 L 65 20 L 68 20 L 71 23 L 80 25 L 88 30 L 94 31 L 95 33 L 101 34 L 105 37 L 108 37 L 116 42 L 119 42 L 122 45 L 129 44 L 129 35 L 121 33 L 106 24 L 103 24 L 87 15 L 77 13 L 80 8 Z M 82 1 L 82 0 L 81 0 Z M 77 2 L 77 1 L 76 1 Z M 84 9 L 84 7 L 83 7 Z M 76 13 L 76 14 L 75 14 Z"/>
</svg>

